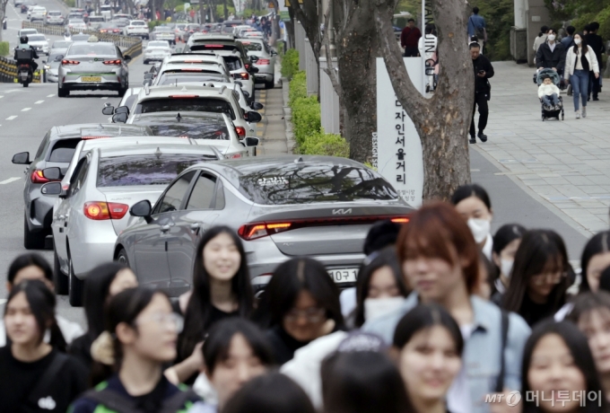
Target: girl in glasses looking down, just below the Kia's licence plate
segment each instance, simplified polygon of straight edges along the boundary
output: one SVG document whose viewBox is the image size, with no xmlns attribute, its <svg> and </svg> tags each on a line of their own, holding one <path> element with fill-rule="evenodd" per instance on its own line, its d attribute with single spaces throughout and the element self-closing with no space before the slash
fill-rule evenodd
<svg viewBox="0 0 610 413">
<path fill-rule="evenodd" d="M 335 283 L 315 259 L 291 259 L 276 268 L 259 309 L 257 320 L 280 365 L 310 341 L 344 330 Z"/>
</svg>

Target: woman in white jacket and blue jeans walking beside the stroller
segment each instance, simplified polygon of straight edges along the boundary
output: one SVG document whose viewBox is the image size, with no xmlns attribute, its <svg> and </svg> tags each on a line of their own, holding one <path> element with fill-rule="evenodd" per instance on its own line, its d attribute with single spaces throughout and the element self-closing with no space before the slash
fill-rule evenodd
<svg viewBox="0 0 610 413">
<path fill-rule="evenodd" d="M 579 33 L 574 35 L 574 46 L 568 50 L 565 64 L 566 70 L 563 76 L 571 83 L 576 119 L 580 119 L 579 98 L 582 102 L 582 117 L 586 118 L 589 72 L 599 77 L 599 64 L 595 52 L 588 47 L 584 35 Z"/>
</svg>

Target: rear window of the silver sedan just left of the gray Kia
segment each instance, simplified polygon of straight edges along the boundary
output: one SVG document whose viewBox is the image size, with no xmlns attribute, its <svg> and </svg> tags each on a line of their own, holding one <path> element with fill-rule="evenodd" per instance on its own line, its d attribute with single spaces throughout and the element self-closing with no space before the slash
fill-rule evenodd
<svg viewBox="0 0 610 413">
<path fill-rule="evenodd" d="M 161 151 L 162 152 L 162 151 Z M 167 185 L 189 166 L 215 160 L 205 154 L 160 154 L 100 158 L 98 188 L 133 185 Z"/>
</svg>

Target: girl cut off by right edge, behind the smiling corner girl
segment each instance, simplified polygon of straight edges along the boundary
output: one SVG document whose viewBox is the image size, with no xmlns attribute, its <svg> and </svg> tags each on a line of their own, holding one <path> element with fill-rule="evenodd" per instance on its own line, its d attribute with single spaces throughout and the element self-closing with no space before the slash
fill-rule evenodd
<svg viewBox="0 0 610 413">
<path fill-rule="evenodd" d="M 597 373 L 604 386 L 604 397 L 610 396 L 610 294 L 606 291 L 579 294 L 568 316 L 587 337 Z"/>
</svg>

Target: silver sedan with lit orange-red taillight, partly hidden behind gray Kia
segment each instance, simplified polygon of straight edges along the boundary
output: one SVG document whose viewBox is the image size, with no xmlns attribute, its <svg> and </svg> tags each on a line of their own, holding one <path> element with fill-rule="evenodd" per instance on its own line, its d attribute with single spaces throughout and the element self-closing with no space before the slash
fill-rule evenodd
<svg viewBox="0 0 610 413">
<path fill-rule="evenodd" d="M 189 166 L 217 159 L 217 151 L 209 146 L 186 142 L 102 146 L 78 161 L 67 189 L 60 182 L 43 186 L 43 193 L 60 198 L 51 227 L 55 259 L 67 276 L 70 303 L 81 305 L 83 279 L 92 268 L 112 259 L 131 206 L 143 199 L 154 202 Z"/>
</svg>

